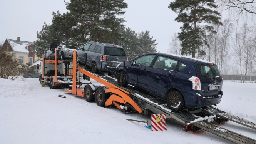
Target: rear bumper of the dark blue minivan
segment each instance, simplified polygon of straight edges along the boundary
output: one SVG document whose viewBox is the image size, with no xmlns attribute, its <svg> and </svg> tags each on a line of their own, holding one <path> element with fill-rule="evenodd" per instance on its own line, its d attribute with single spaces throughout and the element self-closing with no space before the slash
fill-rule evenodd
<svg viewBox="0 0 256 144">
<path fill-rule="evenodd" d="M 204 106 L 212 106 L 221 102 L 222 91 L 214 96 L 204 96 L 203 93 L 195 91 L 184 92 L 185 105 L 188 108 L 201 108 Z"/>
</svg>

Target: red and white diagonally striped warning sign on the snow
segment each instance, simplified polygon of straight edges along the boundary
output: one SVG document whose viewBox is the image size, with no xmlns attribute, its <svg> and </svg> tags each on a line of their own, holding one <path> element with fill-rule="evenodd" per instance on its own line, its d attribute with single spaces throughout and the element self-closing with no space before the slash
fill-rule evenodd
<svg viewBox="0 0 256 144">
<path fill-rule="evenodd" d="M 164 131 L 166 129 L 165 114 L 152 114 L 151 115 L 151 129 L 152 131 Z"/>
</svg>

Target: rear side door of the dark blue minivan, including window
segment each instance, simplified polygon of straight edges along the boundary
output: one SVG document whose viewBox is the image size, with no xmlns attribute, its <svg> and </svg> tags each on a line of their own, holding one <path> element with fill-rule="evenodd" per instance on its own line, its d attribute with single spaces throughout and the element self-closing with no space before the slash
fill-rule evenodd
<svg viewBox="0 0 256 144">
<path fill-rule="evenodd" d="M 147 89 L 158 96 L 164 96 L 167 85 L 171 85 L 178 61 L 158 56 L 154 65 L 147 71 Z"/>
</svg>

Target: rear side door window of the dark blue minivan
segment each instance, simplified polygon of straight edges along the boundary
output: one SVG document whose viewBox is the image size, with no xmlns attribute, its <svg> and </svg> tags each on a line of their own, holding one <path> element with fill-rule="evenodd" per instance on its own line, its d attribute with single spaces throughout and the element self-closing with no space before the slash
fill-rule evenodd
<svg viewBox="0 0 256 144">
<path fill-rule="evenodd" d="M 176 68 L 178 61 L 173 60 L 171 58 L 166 58 L 164 56 L 158 56 L 157 60 L 155 61 L 153 68 L 160 68 L 163 70 L 170 70 L 174 71 Z"/>
</svg>

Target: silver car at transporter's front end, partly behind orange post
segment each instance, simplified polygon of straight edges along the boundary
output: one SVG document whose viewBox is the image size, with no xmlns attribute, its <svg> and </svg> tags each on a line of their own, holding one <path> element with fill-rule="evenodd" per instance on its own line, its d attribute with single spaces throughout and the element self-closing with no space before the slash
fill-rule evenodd
<svg viewBox="0 0 256 144">
<path fill-rule="evenodd" d="M 73 58 L 73 50 L 79 50 L 76 46 L 72 45 L 59 45 L 57 46 L 57 58 L 64 60 L 64 59 L 72 59 Z M 50 50 L 46 51 L 45 53 L 45 60 L 53 60 L 52 52 Z"/>
</svg>

